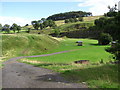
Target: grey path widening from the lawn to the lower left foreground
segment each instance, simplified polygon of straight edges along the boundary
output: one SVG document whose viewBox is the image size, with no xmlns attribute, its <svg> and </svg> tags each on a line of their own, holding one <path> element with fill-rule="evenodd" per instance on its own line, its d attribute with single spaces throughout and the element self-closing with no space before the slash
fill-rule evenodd
<svg viewBox="0 0 120 90">
<path fill-rule="evenodd" d="M 70 51 L 52 54 L 23 56 L 12 58 L 4 62 L 2 69 L 3 88 L 87 88 L 84 84 L 70 83 L 52 70 L 35 67 L 16 61 L 25 57 L 42 57 Z"/>
</svg>

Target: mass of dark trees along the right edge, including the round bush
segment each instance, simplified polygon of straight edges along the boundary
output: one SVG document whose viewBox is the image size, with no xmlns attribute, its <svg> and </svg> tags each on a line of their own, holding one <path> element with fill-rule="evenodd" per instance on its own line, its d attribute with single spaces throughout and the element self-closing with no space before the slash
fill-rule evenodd
<svg viewBox="0 0 120 90">
<path fill-rule="evenodd" d="M 92 30 L 100 31 L 99 44 L 106 45 L 114 41 L 114 47 L 107 48 L 106 51 L 114 54 L 114 58 L 120 61 L 120 11 L 116 11 L 116 5 L 109 8 L 105 17 L 95 20 Z"/>
</svg>

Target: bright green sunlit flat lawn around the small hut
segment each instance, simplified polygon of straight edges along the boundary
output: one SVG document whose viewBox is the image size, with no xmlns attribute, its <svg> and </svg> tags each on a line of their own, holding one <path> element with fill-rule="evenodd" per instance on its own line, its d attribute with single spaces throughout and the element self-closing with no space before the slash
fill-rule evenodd
<svg viewBox="0 0 120 90">
<path fill-rule="evenodd" d="M 75 43 L 76 41 L 83 41 L 83 46 L 77 46 L 77 43 Z M 76 51 L 29 59 L 52 63 L 72 63 L 76 60 L 90 60 L 90 62 L 99 62 L 101 59 L 107 62 L 110 60 L 111 54 L 104 50 L 106 47 L 109 47 L 109 45 L 99 46 L 97 45 L 97 40 L 92 39 L 65 39 L 61 41 L 59 48 L 47 53 L 74 49 L 76 49 Z"/>
</svg>

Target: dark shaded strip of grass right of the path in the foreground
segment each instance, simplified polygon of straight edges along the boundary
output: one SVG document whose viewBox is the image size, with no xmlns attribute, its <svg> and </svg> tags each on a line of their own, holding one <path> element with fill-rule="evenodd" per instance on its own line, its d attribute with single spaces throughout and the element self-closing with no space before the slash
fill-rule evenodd
<svg viewBox="0 0 120 90">
<path fill-rule="evenodd" d="M 93 68 L 67 70 L 62 73 L 68 80 L 87 82 L 91 80 L 104 80 L 118 83 L 118 66 L 103 65 Z"/>
</svg>

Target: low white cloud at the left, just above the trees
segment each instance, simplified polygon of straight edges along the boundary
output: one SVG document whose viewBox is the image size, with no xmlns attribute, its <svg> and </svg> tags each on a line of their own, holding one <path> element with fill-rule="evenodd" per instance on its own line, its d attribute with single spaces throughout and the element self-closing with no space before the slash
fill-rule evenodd
<svg viewBox="0 0 120 90">
<path fill-rule="evenodd" d="M 6 17 L 6 16 L 0 16 L 0 23 L 2 25 L 9 24 L 12 25 L 13 23 L 16 23 L 18 25 L 24 26 L 26 24 L 31 23 L 31 19 L 25 19 L 21 17 Z"/>
</svg>

